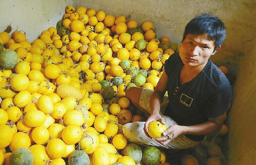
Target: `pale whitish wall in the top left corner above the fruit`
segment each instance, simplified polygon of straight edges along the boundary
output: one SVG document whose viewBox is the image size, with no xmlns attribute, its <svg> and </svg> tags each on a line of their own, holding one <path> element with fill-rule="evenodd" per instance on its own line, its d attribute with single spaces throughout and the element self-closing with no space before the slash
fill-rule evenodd
<svg viewBox="0 0 256 165">
<path fill-rule="evenodd" d="M 13 31 L 26 32 L 33 42 L 43 30 L 56 27 L 72 0 L 0 0 L 0 32 L 11 24 Z M 12 31 L 12 32 L 13 32 Z"/>
</svg>

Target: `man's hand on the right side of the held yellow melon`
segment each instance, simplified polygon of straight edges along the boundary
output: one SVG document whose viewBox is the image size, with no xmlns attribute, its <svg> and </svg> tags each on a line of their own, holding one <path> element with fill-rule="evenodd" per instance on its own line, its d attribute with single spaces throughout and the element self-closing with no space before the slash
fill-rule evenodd
<svg viewBox="0 0 256 165">
<path fill-rule="evenodd" d="M 183 132 L 184 132 L 184 126 L 172 125 L 163 132 L 164 137 L 156 138 L 156 140 L 161 144 L 166 145 L 171 140 L 174 140 L 176 137 L 182 134 Z"/>
</svg>

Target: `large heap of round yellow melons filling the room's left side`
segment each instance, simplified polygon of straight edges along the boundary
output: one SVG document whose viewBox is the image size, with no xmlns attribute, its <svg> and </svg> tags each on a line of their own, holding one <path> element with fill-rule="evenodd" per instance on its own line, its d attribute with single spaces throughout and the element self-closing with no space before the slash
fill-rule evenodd
<svg viewBox="0 0 256 165">
<path fill-rule="evenodd" d="M 154 89 L 175 51 L 160 42 L 169 39 L 156 39 L 150 21 L 140 28 L 124 16 L 73 6 L 32 43 L 23 32 L 0 33 L 3 51 L 18 56 L 13 69 L 0 70 L 0 164 L 21 147 L 31 150 L 33 164 L 66 164 L 76 148 L 90 164 L 135 164 L 117 152 L 127 144 L 122 125 L 143 120 L 131 111 L 125 88 Z M 140 73 L 145 80 L 135 78 Z M 114 97 L 103 98 L 105 86 Z"/>
</svg>

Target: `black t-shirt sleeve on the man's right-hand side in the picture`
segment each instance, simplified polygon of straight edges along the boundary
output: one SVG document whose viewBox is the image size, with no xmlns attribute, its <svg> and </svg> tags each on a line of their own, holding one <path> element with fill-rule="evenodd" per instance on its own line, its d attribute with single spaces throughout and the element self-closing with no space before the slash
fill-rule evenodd
<svg viewBox="0 0 256 165">
<path fill-rule="evenodd" d="M 226 113 L 230 108 L 231 99 L 231 86 L 217 90 L 207 101 L 205 107 L 207 117 L 216 118 Z"/>
</svg>

